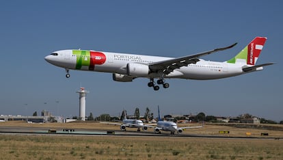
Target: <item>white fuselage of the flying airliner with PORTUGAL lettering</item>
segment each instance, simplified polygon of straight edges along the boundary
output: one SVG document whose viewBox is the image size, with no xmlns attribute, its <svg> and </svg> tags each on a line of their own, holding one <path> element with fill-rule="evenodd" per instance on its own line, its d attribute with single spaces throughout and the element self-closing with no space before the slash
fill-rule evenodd
<svg viewBox="0 0 283 160">
<path fill-rule="evenodd" d="M 96 72 L 111 72 L 128 75 L 128 64 L 144 64 L 162 62 L 172 57 L 157 57 L 150 55 L 133 55 L 126 53 L 109 53 L 83 50 L 55 51 L 45 57 L 47 62 L 55 66 L 70 70 L 86 70 Z M 221 79 L 243 74 L 241 64 L 230 64 L 227 62 L 212 62 L 200 59 L 196 64 L 189 64 L 176 68 L 165 78 L 180 79 Z M 139 77 L 157 78 L 161 75 L 153 72 Z"/>
</svg>

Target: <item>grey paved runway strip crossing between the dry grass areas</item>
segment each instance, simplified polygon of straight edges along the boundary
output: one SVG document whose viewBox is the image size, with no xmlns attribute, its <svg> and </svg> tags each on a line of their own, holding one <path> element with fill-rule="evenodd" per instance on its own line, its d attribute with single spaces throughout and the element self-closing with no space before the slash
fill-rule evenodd
<svg viewBox="0 0 283 160">
<path fill-rule="evenodd" d="M 50 129 L 47 127 L 29 126 L 0 126 L 0 135 L 53 135 L 53 136 L 139 136 L 139 137 L 198 137 L 198 138 L 226 138 L 226 139 L 283 139 L 283 137 L 243 137 L 227 135 L 200 135 L 200 134 L 175 134 L 168 132 L 154 134 L 152 131 L 120 131 L 105 129 Z"/>
</svg>

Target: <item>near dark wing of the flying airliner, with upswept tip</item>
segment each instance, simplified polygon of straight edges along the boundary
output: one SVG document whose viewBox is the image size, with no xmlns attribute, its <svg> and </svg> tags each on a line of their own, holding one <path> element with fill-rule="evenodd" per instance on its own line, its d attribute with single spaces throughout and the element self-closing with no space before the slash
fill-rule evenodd
<svg viewBox="0 0 283 160">
<path fill-rule="evenodd" d="M 189 64 L 196 64 L 196 62 L 199 62 L 200 59 L 198 57 L 202 57 L 204 55 L 209 55 L 211 53 L 215 53 L 217 51 L 223 51 L 226 49 L 230 49 L 233 46 L 235 46 L 237 43 L 234 43 L 230 46 L 226 46 L 224 48 L 219 48 L 219 49 L 213 49 L 211 51 L 205 51 L 202 53 L 198 53 L 195 55 L 187 55 L 184 57 L 177 57 L 177 58 L 172 58 L 168 59 L 165 61 L 160 61 L 160 62 L 153 62 L 149 64 L 149 68 L 151 72 L 163 72 L 165 75 L 168 75 L 170 72 L 175 70 L 176 68 L 180 68 L 183 66 L 188 66 Z"/>
</svg>

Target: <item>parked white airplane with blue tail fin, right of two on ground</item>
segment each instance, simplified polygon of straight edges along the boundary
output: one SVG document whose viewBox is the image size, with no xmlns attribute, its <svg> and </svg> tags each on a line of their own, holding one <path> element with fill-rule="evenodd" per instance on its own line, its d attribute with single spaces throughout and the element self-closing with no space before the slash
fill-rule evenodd
<svg viewBox="0 0 283 160">
<path fill-rule="evenodd" d="M 161 131 L 170 131 L 172 135 L 176 133 L 182 133 L 185 129 L 198 129 L 202 128 L 202 126 L 185 126 L 178 127 L 175 122 L 171 121 L 163 121 L 160 116 L 159 107 L 158 107 L 158 122 L 157 126 L 154 127 L 154 133 L 161 133 Z"/>
</svg>

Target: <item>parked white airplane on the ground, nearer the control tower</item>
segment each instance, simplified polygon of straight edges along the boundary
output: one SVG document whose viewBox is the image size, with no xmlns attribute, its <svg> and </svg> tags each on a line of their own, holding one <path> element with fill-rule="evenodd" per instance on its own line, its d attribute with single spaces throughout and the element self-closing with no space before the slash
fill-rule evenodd
<svg viewBox="0 0 283 160">
<path fill-rule="evenodd" d="M 120 125 L 121 131 L 126 131 L 126 127 L 137 128 L 137 131 L 141 131 L 141 128 L 144 131 L 146 131 L 148 129 L 148 126 L 144 125 L 144 122 L 142 122 L 142 120 L 126 119 L 126 111 L 125 110 L 124 110 L 124 120 L 118 121 L 118 122 L 122 122 L 122 124 L 121 123 L 112 123 L 112 122 L 100 122 L 100 123 Z"/>
</svg>

